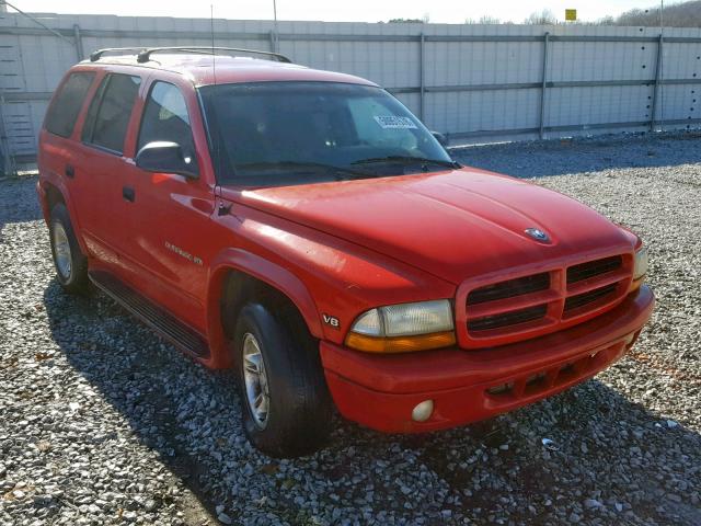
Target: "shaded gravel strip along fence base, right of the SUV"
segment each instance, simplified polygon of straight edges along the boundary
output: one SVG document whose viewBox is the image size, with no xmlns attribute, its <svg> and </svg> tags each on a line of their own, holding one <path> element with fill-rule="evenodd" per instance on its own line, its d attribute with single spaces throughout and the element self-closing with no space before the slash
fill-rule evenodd
<svg viewBox="0 0 701 526">
<path fill-rule="evenodd" d="M 701 133 L 611 136 L 506 142 L 451 148 L 469 167 L 516 178 L 659 168 L 701 162 Z"/>
</svg>

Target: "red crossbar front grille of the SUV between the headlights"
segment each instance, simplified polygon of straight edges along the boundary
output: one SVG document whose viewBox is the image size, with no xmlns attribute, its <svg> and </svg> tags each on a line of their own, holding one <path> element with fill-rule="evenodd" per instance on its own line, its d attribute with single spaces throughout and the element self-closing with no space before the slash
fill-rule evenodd
<svg viewBox="0 0 701 526">
<path fill-rule="evenodd" d="M 543 270 L 547 268 L 547 270 Z M 501 282 L 475 279 L 458 293 L 458 340 L 468 348 L 498 346 L 584 322 L 629 290 L 633 254 L 616 254 Z"/>
</svg>

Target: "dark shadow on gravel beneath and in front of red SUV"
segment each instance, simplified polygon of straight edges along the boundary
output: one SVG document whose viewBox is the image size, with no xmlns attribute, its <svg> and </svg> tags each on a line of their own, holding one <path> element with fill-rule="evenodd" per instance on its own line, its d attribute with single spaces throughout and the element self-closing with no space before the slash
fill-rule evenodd
<svg viewBox="0 0 701 526">
<path fill-rule="evenodd" d="M 139 442 L 158 453 L 210 517 L 227 503 L 230 515 L 239 517 L 235 524 L 252 524 L 255 501 L 263 519 L 255 524 L 269 524 L 265 514 L 317 524 L 302 503 L 309 501 L 309 488 L 325 488 L 317 493 L 319 508 L 345 514 L 357 508 L 361 522 L 368 512 L 360 508 L 369 507 L 372 516 L 393 513 L 410 524 L 420 512 L 434 517 L 425 524 L 452 524 L 446 513 L 455 524 L 461 514 L 481 524 L 490 522 L 491 510 L 507 507 L 516 523 L 561 523 L 553 502 L 582 507 L 563 499 L 577 491 L 585 500 L 599 491 L 591 499 L 601 510 L 585 513 L 605 524 L 698 524 L 699 505 L 668 500 L 665 481 L 682 476 L 689 464 L 699 465 L 701 436 L 681 425 L 671 428 L 601 381 L 492 421 L 428 435 L 382 435 L 336 419 L 324 451 L 278 461 L 245 442 L 229 374 L 184 357 L 101 294 L 71 297 L 54 279 L 44 305 L 53 339 L 70 365 L 124 415 Z M 545 437 L 552 446 L 543 446 Z M 412 478 L 414 472 L 423 474 Z M 701 487 L 701 472 L 693 477 L 687 483 Z M 613 493 L 601 494 L 602 487 Z M 428 496 L 417 504 L 414 491 L 420 490 Z"/>
</svg>

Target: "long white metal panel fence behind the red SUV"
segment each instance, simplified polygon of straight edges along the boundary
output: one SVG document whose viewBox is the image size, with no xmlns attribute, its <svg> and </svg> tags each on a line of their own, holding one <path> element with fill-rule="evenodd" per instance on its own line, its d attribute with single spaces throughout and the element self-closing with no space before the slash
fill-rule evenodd
<svg viewBox="0 0 701 526">
<path fill-rule="evenodd" d="M 100 47 L 210 45 L 210 21 L 0 13 L 4 151 L 20 162 L 65 70 Z M 701 125 L 701 30 L 215 20 L 217 45 L 386 87 L 452 144 Z"/>
</svg>

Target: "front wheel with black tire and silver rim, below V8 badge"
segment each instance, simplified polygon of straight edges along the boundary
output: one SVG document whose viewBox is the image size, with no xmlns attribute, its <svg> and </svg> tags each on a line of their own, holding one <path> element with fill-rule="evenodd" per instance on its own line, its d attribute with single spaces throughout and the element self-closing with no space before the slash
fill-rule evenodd
<svg viewBox="0 0 701 526">
<path fill-rule="evenodd" d="M 249 441 L 271 457 L 294 458 L 314 453 L 326 443 L 332 402 L 315 341 L 303 320 L 291 308 L 276 315 L 260 304 L 241 309 L 234 330 L 234 363 Z M 258 411 L 265 404 L 256 410 L 251 401 L 256 398 L 255 381 L 251 380 L 255 377 L 251 369 L 256 347 L 265 377 L 263 382 L 258 376 L 257 392 L 267 392 L 266 411 Z"/>
</svg>

